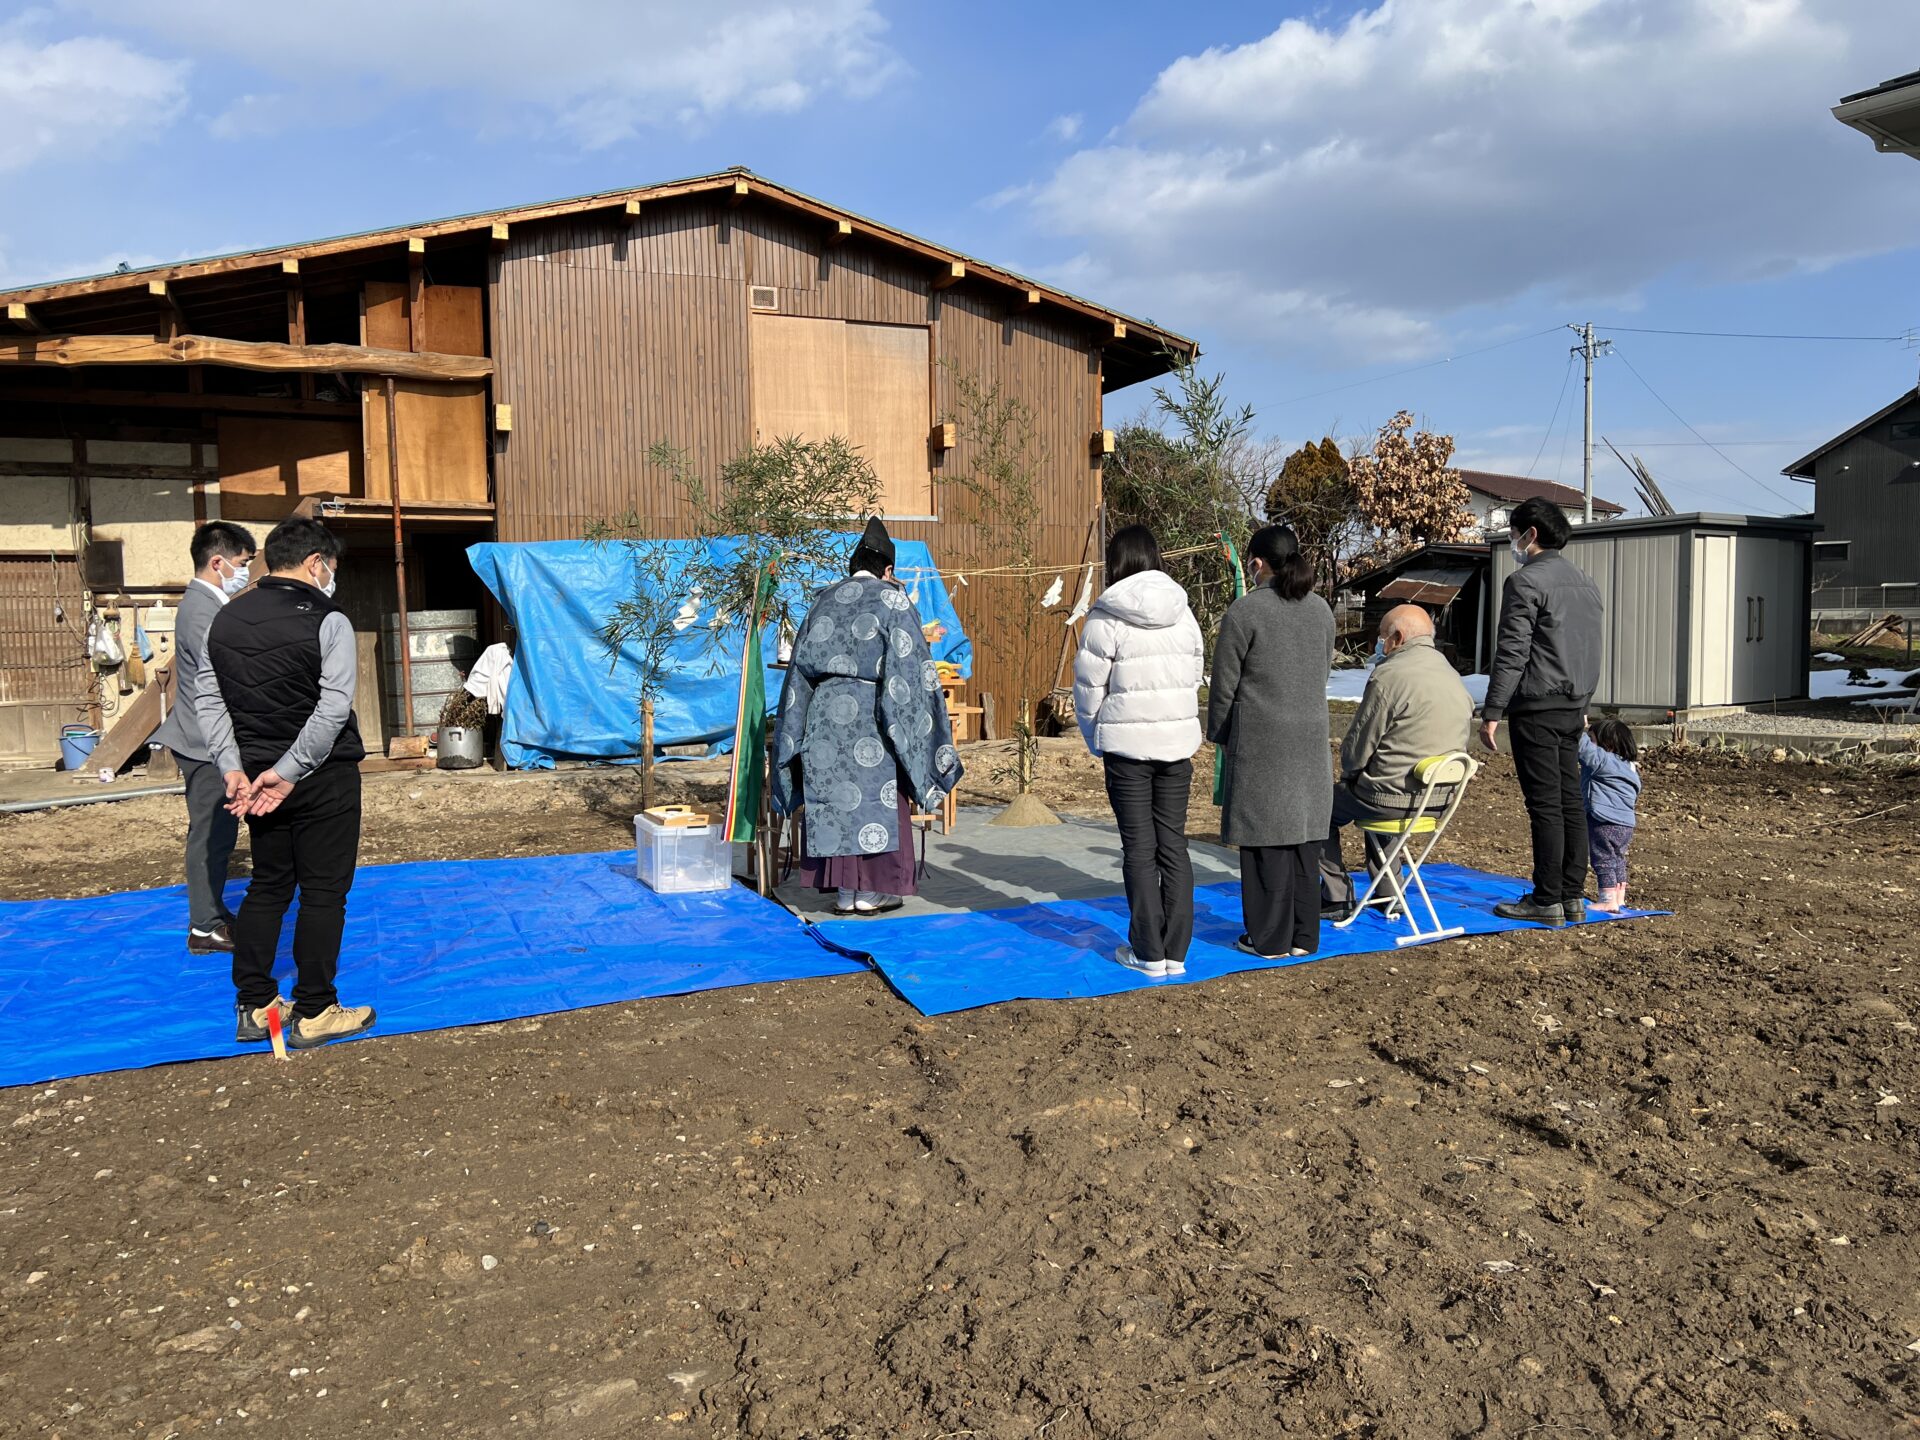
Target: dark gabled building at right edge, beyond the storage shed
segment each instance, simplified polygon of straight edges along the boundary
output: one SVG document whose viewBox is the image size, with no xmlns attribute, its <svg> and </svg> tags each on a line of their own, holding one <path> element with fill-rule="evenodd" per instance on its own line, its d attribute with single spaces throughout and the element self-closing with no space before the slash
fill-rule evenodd
<svg viewBox="0 0 1920 1440">
<path fill-rule="evenodd" d="M 1908 390 L 1784 474 L 1814 488 L 1816 609 L 1920 605 L 1920 394 Z"/>
</svg>

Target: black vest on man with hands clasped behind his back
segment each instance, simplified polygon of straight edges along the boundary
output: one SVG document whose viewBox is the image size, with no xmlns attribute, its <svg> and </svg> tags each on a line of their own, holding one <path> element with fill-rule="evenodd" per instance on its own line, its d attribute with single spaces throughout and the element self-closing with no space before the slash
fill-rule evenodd
<svg viewBox="0 0 1920 1440">
<path fill-rule="evenodd" d="M 338 609 L 301 580 L 267 576 L 213 618 L 207 662 L 250 776 L 286 755 L 321 703 L 321 620 Z M 363 758 L 359 722 L 348 712 L 328 764 Z"/>
</svg>

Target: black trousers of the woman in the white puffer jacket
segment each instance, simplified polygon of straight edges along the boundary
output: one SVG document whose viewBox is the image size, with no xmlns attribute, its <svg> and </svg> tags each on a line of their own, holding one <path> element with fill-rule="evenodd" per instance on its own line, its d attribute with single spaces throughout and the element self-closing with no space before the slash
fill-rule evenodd
<svg viewBox="0 0 1920 1440">
<path fill-rule="evenodd" d="M 1142 960 L 1187 960 L 1194 939 L 1194 868 L 1187 856 L 1192 760 L 1106 756 L 1106 799 L 1119 824 L 1127 941 Z"/>
</svg>

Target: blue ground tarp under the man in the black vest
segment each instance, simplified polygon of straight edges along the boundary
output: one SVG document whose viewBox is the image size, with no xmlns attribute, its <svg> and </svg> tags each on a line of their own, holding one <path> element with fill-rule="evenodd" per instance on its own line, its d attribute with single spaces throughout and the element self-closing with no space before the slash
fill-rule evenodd
<svg viewBox="0 0 1920 1440">
<path fill-rule="evenodd" d="M 184 941 L 179 885 L 0 904 L 0 1085 L 263 1054 L 234 1044 L 227 956 Z M 624 851 L 369 866 L 348 899 L 338 983 L 346 1004 L 374 1006 L 382 1037 L 864 970 L 741 885 L 655 895 Z"/>
</svg>

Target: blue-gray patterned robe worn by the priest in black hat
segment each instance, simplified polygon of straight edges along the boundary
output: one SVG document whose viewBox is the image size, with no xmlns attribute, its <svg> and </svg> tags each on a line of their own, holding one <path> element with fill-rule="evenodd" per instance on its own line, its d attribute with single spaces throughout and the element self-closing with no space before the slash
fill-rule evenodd
<svg viewBox="0 0 1920 1440">
<path fill-rule="evenodd" d="M 820 591 L 793 639 L 772 803 L 806 804 L 806 854 L 900 847 L 900 791 L 931 810 L 960 783 L 941 676 L 902 589 L 866 574 Z"/>
</svg>

